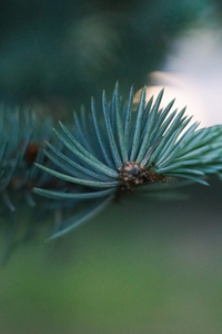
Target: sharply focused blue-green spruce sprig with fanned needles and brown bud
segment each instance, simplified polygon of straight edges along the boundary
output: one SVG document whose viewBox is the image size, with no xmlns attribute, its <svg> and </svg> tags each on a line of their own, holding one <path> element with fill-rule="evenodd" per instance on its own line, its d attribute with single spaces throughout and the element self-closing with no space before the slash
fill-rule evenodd
<svg viewBox="0 0 222 334">
<path fill-rule="evenodd" d="M 168 188 L 171 177 L 178 186 L 208 185 L 208 176 L 222 175 L 222 126 L 198 129 L 184 112 L 172 111 L 173 101 L 160 109 L 163 90 L 145 105 L 145 88 L 133 111 L 133 88 L 124 106 L 117 84 L 111 102 L 102 94 L 102 112 L 91 100 L 91 114 L 74 114 L 74 129 L 61 122 L 53 130 L 62 148 L 48 144 L 46 156 L 53 167 L 36 164 L 42 171 L 65 183 L 63 190 L 34 187 L 38 195 L 74 205 L 90 200 L 52 235 L 60 237 L 103 208 L 115 196 L 135 189 L 152 191 L 152 184 Z M 181 181 L 184 179 L 184 181 Z"/>
</svg>

